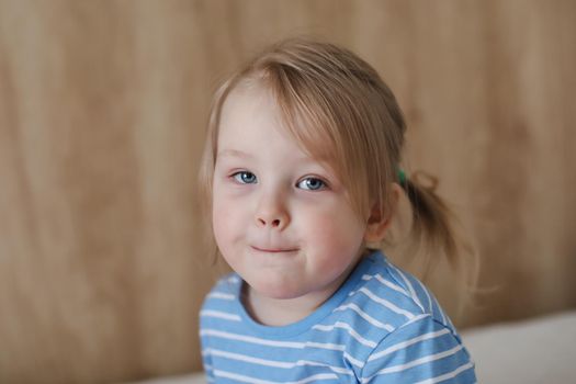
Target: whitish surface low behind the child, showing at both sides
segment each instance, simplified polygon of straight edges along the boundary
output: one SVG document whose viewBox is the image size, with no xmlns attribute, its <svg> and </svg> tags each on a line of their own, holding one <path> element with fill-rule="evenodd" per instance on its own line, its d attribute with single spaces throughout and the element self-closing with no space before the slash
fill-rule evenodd
<svg viewBox="0 0 576 384">
<path fill-rule="evenodd" d="M 576 310 L 462 332 L 478 383 L 576 383 Z M 133 384 L 205 384 L 191 374 Z"/>
</svg>

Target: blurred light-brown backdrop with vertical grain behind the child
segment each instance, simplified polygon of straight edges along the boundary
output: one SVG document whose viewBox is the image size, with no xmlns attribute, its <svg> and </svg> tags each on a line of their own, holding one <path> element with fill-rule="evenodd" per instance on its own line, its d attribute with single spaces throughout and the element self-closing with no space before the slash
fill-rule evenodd
<svg viewBox="0 0 576 384">
<path fill-rule="evenodd" d="M 201 369 L 212 93 L 294 35 L 399 100 L 482 261 L 461 328 L 576 307 L 576 2 L 0 0 L 0 383 Z"/>
</svg>

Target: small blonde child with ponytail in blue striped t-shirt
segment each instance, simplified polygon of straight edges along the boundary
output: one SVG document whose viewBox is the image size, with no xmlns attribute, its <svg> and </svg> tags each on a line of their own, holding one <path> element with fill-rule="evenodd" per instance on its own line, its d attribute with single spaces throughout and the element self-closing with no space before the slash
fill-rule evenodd
<svg viewBox="0 0 576 384">
<path fill-rule="evenodd" d="M 400 193 L 427 244 L 442 202 L 399 170 L 405 123 L 376 71 L 321 42 L 275 44 L 217 91 L 201 178 L 235 273 L 200 313 L 217 383 L 475 383 L 430 291 L 376 250 Z"/>
</svg>

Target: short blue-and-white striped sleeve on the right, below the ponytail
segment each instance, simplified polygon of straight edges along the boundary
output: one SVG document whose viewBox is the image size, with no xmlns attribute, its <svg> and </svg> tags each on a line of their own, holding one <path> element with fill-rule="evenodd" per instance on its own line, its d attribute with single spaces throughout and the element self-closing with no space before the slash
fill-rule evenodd
<svg viewBox="0 0 576 384">
<path fill-rule="evenodd" d="M 461 339 L 430 316 L 386 336 L 372 351 L 362 383 L 476 383 L 474 363 Z"/>
</svg>

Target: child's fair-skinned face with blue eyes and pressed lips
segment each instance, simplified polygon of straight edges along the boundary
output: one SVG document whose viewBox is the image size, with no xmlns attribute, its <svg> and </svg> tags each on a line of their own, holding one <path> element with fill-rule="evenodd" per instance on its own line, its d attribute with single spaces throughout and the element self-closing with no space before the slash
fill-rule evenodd
<svg viewBox="0 0 576 384">
<path fill-rule="evenodd" d="M 290 137 L 259 87 L 228 97 L 217 148 L 213 225 L 226 261 L 260 295 L 326 300 L 366 229 L 342 184 Z"/>
</svg>

